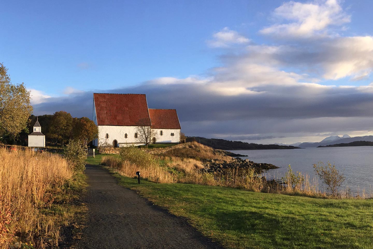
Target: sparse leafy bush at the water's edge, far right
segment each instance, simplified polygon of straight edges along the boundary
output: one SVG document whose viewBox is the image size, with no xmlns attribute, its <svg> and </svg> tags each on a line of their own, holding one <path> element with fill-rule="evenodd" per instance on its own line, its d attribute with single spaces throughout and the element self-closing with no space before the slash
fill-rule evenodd
<svg viewBox="0 0 373 249">
<path fill-rule="evenodd" d="M 323 183 L 326 185 L 326 189 L 329 190 L 333 197 L 338 196 L 338 189 L 341 184 L 346 180 L 343 173 L 339 173 L 338 169 L 335 168 L 335 164 L 327 163 L 327 166 L 323 162 L 319 162 L 313 165 L 316 174 L 320 177 Z"/>
</svg>

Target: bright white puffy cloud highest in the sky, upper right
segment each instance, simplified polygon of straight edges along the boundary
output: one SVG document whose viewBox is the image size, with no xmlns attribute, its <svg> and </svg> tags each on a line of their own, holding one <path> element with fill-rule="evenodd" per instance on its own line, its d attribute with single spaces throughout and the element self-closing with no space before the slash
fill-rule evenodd
<svg viewBox="0 0 373 249">
<path fill-rule="evenodd" d="M 260 31 L 262 34 L 293 37 L 327 35 L 329 26 L 343 25 L 351 20 L 350 16 L 343 12 L 337 0 L 310 3 L 289 1 L 275 9 L 273 15 L 287 23 L 278 22 L 263 28 Z"/>
</svg>

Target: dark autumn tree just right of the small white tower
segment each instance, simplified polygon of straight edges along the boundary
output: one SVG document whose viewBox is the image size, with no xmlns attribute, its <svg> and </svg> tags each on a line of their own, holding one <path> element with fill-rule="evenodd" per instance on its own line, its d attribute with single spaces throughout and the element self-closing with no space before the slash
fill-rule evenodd
<svg viewBox="0 0 373 249">
<path fill-rule="evenodd" d="M 50 122 L 48 137 L 60 142 L 63 146 L 70 138 L 71 129 L 71 114 L 65 111 L 55 112 Z"/>
</svg>

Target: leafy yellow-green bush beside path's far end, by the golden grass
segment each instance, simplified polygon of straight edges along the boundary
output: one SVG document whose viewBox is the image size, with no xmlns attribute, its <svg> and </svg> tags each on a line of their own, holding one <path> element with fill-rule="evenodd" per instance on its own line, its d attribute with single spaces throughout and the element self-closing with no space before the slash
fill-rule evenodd
<svg viewBox="0 0 373 249">
<path fill-rule="evenodd" d="M 65 158 L 75 171 L 83 171 L 87 159 L 87 149 L 80 141 L 70 139 L 65 147 Z"/>
</svg>

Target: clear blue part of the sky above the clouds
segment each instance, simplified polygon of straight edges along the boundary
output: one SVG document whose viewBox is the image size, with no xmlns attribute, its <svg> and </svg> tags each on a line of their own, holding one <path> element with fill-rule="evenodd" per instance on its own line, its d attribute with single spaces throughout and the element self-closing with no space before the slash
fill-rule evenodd
<svg viewBox="0 0 373 249">
<path fill-rule="evenodd" d="M 252 4 L 252 3 L 251 3 Z M 1 57 L 14 82 L 50 95 L 188 77 L 216 66 L 206 40 L 265 19 L 245 1 L 8 1 Z M 224 18 L 222 18 L 224 16 Z M 103 85 L 104 84 L 104 85 Z"/>
</svg>

